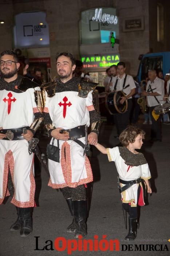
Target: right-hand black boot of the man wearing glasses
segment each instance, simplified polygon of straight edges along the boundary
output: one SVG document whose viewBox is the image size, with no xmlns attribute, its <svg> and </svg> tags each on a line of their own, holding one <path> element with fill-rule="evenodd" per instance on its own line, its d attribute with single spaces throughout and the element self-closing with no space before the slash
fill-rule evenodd
<svg viewBox="0 0 170 256">
<path fill-rule="evenodd" d="M 27 237 L 32 233 L 31 207 L 19 208 L 19 216 L 21 220 L 20 236 Z"/>
</svg>

